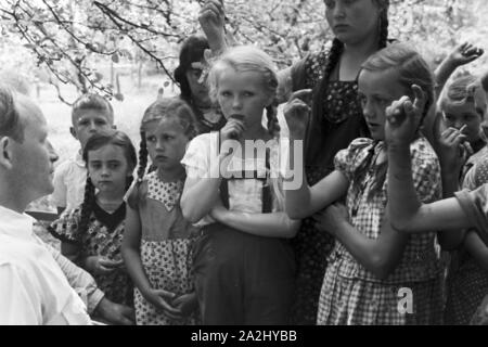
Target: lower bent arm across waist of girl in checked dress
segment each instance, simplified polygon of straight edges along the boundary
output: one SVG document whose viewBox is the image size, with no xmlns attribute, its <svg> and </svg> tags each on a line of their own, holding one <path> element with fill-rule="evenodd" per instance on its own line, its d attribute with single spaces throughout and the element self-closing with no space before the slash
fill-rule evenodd
<svg viewBox="0 0 488 347">
<path fill-rule="evenodd" d="M 342 204 L 331 205 L 313 218 L 319 230 L 333 232 L 364 268 L 384 280 L 401 260 L 409 237 L 391 228 L 387 210 L 376 240 L 367 237 L 349 222 L 347 209 Z"/>
</svg>

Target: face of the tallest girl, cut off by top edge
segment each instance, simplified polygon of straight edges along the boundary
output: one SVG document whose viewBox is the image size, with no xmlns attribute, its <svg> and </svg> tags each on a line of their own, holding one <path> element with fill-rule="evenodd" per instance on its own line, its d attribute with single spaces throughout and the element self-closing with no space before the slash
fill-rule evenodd
<svg viewBox="0 0 488 347">
<path fill-rule="evenodd" d="M 380 8 L 374 0 L 324 0 L 325 17 L 334 36 L 356 43 L 377 34 Z"/>
</svg>

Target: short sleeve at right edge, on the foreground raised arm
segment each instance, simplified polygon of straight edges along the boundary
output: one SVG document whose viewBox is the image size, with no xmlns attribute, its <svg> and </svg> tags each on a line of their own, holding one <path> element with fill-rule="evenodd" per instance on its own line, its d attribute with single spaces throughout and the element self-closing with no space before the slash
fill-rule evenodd
<svg viewBox="0 0 488 347">
<path fill-rule="evenodd" d="M 470 223 L 476 228 L 479 237 L 488 246 L 488 183 L 475 191 L 463 190 L 454 195 Z"/>
</svg>

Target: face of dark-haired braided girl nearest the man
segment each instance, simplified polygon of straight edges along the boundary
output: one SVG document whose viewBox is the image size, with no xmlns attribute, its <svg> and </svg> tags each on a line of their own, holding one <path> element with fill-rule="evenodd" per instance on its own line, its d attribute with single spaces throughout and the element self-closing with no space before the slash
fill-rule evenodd
<svg viewBox="0 0 488 347">
<path fill-rule="evenodd" d="M 87 165 L 91 182 L 100 192 L 120 192 L 124 195 L 127 178 L 133 168 L 129 167 L 123 147 L 106 144 L 89 151 Z"/>
</svg>

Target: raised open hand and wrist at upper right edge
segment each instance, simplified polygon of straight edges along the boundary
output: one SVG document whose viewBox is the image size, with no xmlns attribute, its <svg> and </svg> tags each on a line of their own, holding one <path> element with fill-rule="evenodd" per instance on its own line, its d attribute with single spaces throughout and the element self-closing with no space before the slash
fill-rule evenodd
<svg viewBox="0 0 488 347">
<path fill-rule="evenodd" d="M 440 94 L 446 81 L 458 67 L 477 60 L 483 53 L 483 49 L 468 42 L 455 47 L 434 72 L 436 95 Z"/>
</svg>

